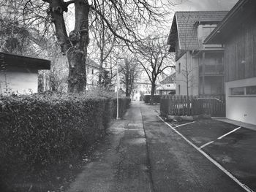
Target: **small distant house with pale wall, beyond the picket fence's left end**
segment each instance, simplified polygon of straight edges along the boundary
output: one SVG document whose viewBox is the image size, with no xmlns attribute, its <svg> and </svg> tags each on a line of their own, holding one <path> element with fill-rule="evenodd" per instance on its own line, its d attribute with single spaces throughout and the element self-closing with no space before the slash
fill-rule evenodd
<svg viewBox="0 0 256 192">
<path fill-rule="evenodd" d="M 176 73 L 173 73 L 167 77 L 165 77 L 164 80 L 160 82 L 160 85 L 157 87 L 157 93 L 159 95 L 167 95 L 172 94 L 175 95 L 176 93 Z"/>
</svg>

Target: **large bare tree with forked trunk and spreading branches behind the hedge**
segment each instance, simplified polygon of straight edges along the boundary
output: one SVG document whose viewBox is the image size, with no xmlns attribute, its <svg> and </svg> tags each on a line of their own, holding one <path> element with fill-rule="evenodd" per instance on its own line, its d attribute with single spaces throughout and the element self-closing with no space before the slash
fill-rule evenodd
<svg viewBox="0 0 256 192">
<path fill-rule="evenodd" d="M 86 85 L 85 61 L 89 45 L 89 26 L 95 18 L 102 20 L 105 28 L 108 28 L 116 39 L 130 46 L 139 39 L 137 32 L 139 24 L 146 26 L 152 20 L 160 21 L 164 15 L 163 9 L 159 7 L 162 6 L 161 1 L 157 0 L 26 0 L 22 2 L 20 5 L 24 8 L 24 20 L 31 21 L 37 16 L 53 22 L 61 51 L 67 54 L 69 61 L 68 91 L 73 93 L 83 92 Z M 103 2 L 104 11 L 101 8 Z M 71 4 L 75 7 L 75 27 L 68 35 L 64 12 L 68 11 Z M 41 7 L 37 8 L 40 5 Z M 42 14 L 45 5 L 48 5 L 48 17 Z M 116 31 L 116 28 L 120 30 Z"/>
</svg>

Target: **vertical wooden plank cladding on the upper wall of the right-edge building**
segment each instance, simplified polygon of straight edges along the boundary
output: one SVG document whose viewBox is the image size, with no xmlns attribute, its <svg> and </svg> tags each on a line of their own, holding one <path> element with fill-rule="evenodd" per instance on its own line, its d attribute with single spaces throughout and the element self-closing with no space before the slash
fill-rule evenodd
<svg viewBox="0 0 256 192">
<path fill-rule="evenodd" d="M 225 42 L 226 81 L 256 77 L 256 23 L 255 16 L 251 17 Z"/>
</svg>

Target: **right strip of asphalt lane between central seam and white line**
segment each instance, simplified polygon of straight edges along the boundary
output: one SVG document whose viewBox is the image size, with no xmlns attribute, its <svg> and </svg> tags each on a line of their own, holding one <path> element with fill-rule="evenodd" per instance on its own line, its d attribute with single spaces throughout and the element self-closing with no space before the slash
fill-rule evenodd
<svg viewBox="0 0 256 192">
<path fill-rule="evenodd" d="M 244 191 L 142 104 L 154 191 Z M 189 126 L 189 125 L 188 125 Z"/>
</svg>

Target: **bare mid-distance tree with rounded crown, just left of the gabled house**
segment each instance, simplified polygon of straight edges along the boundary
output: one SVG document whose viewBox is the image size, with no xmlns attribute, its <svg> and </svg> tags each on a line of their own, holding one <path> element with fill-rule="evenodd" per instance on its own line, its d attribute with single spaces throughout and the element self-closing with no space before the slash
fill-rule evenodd
<svg viewBox="0 0 256 192">
<path fill-rule="evenodd" d="M 165 38 L 148 37 L 137 48 L 138 62 L 151 82 L 151 104 L 156 90 L 156 82 L 159 74 L 167 68 L 174 68 L 174 55 L 168 52 Z"/>
</svg>

